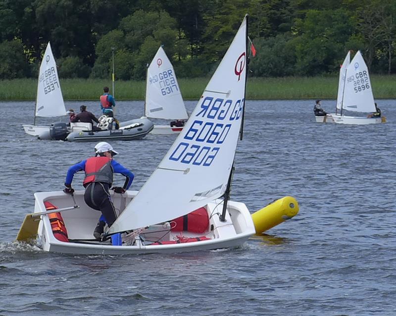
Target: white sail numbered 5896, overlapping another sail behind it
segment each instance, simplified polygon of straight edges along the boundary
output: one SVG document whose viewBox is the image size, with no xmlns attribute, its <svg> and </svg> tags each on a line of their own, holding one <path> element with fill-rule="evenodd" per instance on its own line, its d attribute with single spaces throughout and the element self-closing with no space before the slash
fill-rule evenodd
<svg viewBox="0 0 396 316">
<path fill-rule="evenodd" d="M 368 69 L 358 51 L 347 68 L 343 108 L 355 112 L 375 112 Z"/>
</svg>

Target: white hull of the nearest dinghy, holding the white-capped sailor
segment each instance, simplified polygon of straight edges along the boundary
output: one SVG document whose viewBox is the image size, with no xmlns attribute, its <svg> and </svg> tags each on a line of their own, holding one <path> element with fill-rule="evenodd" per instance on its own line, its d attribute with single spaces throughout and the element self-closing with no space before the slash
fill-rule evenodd
<svg viewBox="0 0 396 316">
<path fill-rule="evenodd" d="M 136 196 L 137 191 L 127 191 L 124 194 L 112 194 L 112 200 L 116 210 L 123 210 L 126 205 Z M 35 212 L 46 211 L 44 202 L 48 201 L 58 208 L 67 208 L 73 204 L 70 195 L 58 192 L 35 193 Z M 243 203 L 228 202 L 226 220 L 221 222 L 219 216 L 211 216 L 211 213 L 221 212 L 223 204 L 221 200 L 214 200 L 205 206 L 209 216 L 208 229 L 204 233 L 172 232 L 168 225 L 153 225 L 160 230 L 156 233 L 158 241 L 169 242 L 177 239 L 182 234 L 183 238 L 207 237 L 208 240 L 145 245 L 139 236 L 145 235 L 145 231 L 138 235 L 133 245 L 113 246 L 109 242 L 93 241 L 93 232 L 98 222 L 100 212 L 89 208 L 84 203 L 84 191 L 76 191 L 74 194 L 79 208 L 62 211 L 61 215 L 67 229 L 69 242 L 63 242 L 54 237 L 47 214 L 41 215 L 38 236 L 41 247 L 47 252 L 81 254 L 81 255 L 122 255 L 122 254 L 145 254 L 145 253 L 175 253 L 210 250 L 219 248 L 233 248 L 241 246 L 251 235 L 255 233 L 252 217 Z M 231 214 L 231 216 L 230 216 Z M 123 234 L 124 236 L 125 234 Z M 162 238 L 160 238 L 162 237 Z M 87 241 L 90 240 L 91 241 Z M 77 241 L 80 240 L 80 241 Z M 86 240 L 86 241 L 84 241 Z"/>
</svg>

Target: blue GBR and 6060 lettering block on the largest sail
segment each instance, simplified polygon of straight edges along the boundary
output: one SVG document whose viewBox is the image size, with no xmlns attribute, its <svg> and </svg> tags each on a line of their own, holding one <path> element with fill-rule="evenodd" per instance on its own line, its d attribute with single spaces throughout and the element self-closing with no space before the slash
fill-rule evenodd
<svg viewBox="0 0 396 316">
<path fill-rule="evenodd" d="M 241 119 L 243 106 L 244 99 L 233 101 L 205 97 L 195 115 L 196 119 L 169 160 L 210 166 L 221 149 L 221 144 L 227 139 L 232 125 Z"/>
</svg>

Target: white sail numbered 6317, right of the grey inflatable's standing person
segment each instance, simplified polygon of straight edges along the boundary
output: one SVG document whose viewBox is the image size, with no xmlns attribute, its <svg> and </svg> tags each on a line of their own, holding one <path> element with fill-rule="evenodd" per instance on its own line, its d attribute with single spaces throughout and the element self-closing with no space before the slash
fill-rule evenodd
<svg viewBox="0 0 396 316">
<path fill-rule="evenodd" d="M 145 115 L 164 119 L 188 118 L 175 70 L 162 47 L 147 69 Z"/>
</svg>

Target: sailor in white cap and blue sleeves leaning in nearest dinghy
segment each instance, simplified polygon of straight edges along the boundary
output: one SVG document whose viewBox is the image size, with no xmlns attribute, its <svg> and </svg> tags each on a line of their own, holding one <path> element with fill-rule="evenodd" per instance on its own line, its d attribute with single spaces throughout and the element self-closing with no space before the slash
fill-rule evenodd
<svg viewBox="0 0 396 316">
<path fill-rule="evenodd" d="M 134 174 L 130 170 L 112 158 L 117 154 L 110 144 L 100 142 L 95 146 L 95 157 L 76 163 L 67 170 L 65 189 L 63 191 L 68 194 L 74 192 L 74 189 L 71 187 L 74 173 L 85 171 L 83 181 L 85 187 L 84 201 L 90 208 L 102 212 L 102 216 L 100 216 L 98 225 L 94 231 L 94 236 L 97 239 L 103 233 L 105 222 L 110 227 L 117 218 L 117 213 L 109 193 L 109 189 L 113 183 L 113 173 L 120 173 L 126 177 L 123 187 L 112 188 L 116 193 L 122 194 L 128 190 L 134 179 Z M 120 236 L 120 234 L 111 236 L 113 245 L 121 245 Z"/>
</svg>

